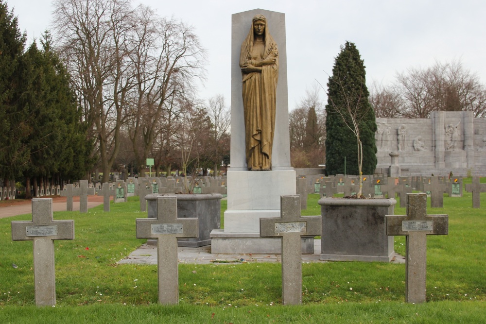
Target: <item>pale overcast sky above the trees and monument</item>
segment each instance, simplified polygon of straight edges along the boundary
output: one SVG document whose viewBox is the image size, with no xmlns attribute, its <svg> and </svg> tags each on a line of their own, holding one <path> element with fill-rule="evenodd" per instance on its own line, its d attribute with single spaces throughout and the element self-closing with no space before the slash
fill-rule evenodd
<svg viewBox="0 0 486 324">
<path fill-rule="evenodd" d="M 5 0 L 4 0 L 5 1 Z M 50 29 L 51 0 L 6 0 L 28 44 Z M 208 53 L 200 97 L 230 104 L 231 15 L 256 8 L 285 14 L 289 109 L 315 79 L 326 85 L 347 40 L 364 59 L 366 83 L 389 85 L 397 72 L 460 60 L 486 83 L 484 0 L 134 0 L 195 28 Z M 271 27 L 271 26 L 270 26 Z M 325 95 L 322 94 L 324 99 Z"/>
</svg>

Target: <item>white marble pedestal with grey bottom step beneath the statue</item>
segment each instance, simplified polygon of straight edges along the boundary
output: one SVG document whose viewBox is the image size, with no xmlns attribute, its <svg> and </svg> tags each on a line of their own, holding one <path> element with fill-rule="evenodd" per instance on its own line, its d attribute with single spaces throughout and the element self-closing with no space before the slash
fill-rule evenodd
<svg viewBox="0 0 486 324">
<path fill-rule="evenodd" d="M 211 231 L 211 253 L 281 253 L 279 238 L 260 238 L 260 218 L 280 217 L 280 196 L 295 195 L 295 171 L 229 170 L 227 181 L 225 225 Z M 313 252 L 313 238 L 302 238 L 302 253 Z"/>
</svg>

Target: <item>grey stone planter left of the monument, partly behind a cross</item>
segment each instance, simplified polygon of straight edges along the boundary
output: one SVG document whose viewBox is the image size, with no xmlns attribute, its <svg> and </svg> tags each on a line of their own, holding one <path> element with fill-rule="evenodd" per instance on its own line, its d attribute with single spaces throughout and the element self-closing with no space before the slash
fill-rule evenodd
<svg viewBox="0 0 486 324">
<path fill-rule="evenodd" d="M 148 218 L 156 218 L 157 197 L 162 194 L 145 196 L 148 203 Z M 197 218 L 198 238 L 177 239 L 178 246 L 199 247 L 211 244 L 209 234 L 221 225 L 221 194 L 170 195 L 177 198 L 178 218 Z M 148 245 L 156 245 L 156 240 L 149 239 Z"/>
</svg>

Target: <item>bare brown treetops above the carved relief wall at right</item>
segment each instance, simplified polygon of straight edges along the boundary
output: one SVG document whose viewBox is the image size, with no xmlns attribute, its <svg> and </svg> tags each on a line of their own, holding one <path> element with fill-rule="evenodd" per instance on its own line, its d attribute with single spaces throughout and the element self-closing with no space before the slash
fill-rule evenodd
<svg viewBox="0 0 486 324">
<path fill-rule="evenodd" d="M 486 85 L 460 61 L 409 68 L 392 85 L 370 88 L 376 117 L 429 118 L 433 111 L 473 111 L 476 118 L 486 117 Z"/>
</svg>

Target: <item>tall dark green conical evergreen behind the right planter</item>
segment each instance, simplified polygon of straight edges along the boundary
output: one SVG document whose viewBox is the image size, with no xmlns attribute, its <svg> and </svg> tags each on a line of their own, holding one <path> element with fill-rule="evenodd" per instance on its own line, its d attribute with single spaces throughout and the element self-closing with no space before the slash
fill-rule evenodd
<svg viewBox="0 0 486 324">
<path fill-rule="evenodd" d="M 363 143 L 363 174 L 376 169 L 375 112 L 368 101 L 364 61 L 354 45 L 346 42 L 335 58 L 332 76 L 328 81 L 326 105 L 326 171 L 329 175 L 346 173 L 358 175 L 358 144 L 356 136 L 346 126 L 351 124 L 348 107 L 357 108 L 354 116 L 359 122 Z M 341 113 L 340 113 L 341 112 Z"/>
</svg>

